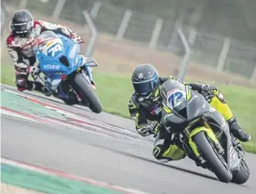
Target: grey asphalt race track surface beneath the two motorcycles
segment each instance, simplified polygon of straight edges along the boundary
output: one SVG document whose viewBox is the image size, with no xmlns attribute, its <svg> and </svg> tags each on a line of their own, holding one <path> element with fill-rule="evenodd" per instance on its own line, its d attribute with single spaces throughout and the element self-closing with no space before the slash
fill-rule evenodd
<svg viewBox="0 0 256 194">
<path fill-rule="evenodd" d="M 36 98 L 135 131 L 131 120 L 106 113 L 96 115 L 84 108 Z M 158 163 L 151 155 L 152 142 L 137 135 L 133 138 L 125 138 L 125 135 L 110 137 L 10 116 L 1 115 L 1 119 L 3 158 L 156 194 L 256 193 L 254 154 L 246 154 L 251 170 L 246 184 L 224 184 L 212 172 L 195 166 L 189 159 L 168 165 Z"/>
</svg>

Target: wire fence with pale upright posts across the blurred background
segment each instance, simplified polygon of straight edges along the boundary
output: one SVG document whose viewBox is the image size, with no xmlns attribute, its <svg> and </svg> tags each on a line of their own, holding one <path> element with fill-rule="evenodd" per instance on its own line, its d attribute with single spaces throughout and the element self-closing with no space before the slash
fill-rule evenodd
<svg viewBox="0 0 256 194">
<path fill-rule="evenodd" d="M 53 19 L 85 23 L 83 10 L 88 10 L 99 33 L 115 35 L 117 40 L 131 40 L 150 48 L 181 53 L 178 41 L 181 20 L 163 20 L 157 16 L 115 7 L 93 0 L 8 0 L 20 8 L 38 10 Z M 234 72 L 256 82 L 256 44 L 237 41 L 218 34 L 200 32 L 182 26 L 191 47 L 191 60 L 214 66 L 219 72 Z"/>
</svg>

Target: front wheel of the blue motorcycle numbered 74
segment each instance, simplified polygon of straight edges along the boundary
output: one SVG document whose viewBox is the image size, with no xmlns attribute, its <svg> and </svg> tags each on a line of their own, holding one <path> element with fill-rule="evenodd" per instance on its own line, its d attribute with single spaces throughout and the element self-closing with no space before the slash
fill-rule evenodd
<svg viewBox="0 0 256 194">
<path fill-rule="evenodd" d="M 89 108 L 95 112 L 100 113 L 102 111 L 102 104 L 99 101 L 99 97 L 93 91 L 92 87 L 87 83 L 86 79 L 80 74 L 74 76 L 74 90 L 77 93 L 82 94 L 82 102 L 89 103 Z"/>
</svg>

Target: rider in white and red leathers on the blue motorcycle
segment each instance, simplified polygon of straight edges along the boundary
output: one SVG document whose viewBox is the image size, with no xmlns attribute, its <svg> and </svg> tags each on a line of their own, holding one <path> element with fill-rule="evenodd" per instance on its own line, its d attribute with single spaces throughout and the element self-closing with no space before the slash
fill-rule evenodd
<svg viewBox="0 0 256 194">
<path fill-rule="evenodd" d="M 18 91 L 41 91 L 47 93 L 42 82 L 36 79 L 40 69 L 33 47 L 36 38 L 45 30 L 54 31 L 56 34 L 63 34 L 73 41 L 82 42 L 81 37 L 75 34 L 70 28 L 61 24 L 54 24 L 42 20 L 34 20 L 33 16 L 27 9 L 16 10 L 10 22 L 10 35 L 7 37 L 7 49 L 13 60 L 16 70 L 16 87 Z M 94 84 L 91 69 L 89 69 L 89 77 Z M 35 78 L 30 81 L 29 74 Z"/>
</svg>

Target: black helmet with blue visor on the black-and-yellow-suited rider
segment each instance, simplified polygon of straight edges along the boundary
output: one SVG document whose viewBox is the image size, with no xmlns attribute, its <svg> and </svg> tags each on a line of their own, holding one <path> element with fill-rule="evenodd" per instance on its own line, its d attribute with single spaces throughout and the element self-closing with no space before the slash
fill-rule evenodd
<svg viewBox="0 0 256 194">
<path fill-rule="evenodd" d="M 139 97 L 153 97 L 157 92 L 159 76 L 155 66 L 138 65 L 132 73 L 131 82 Z"/>
</svg>

